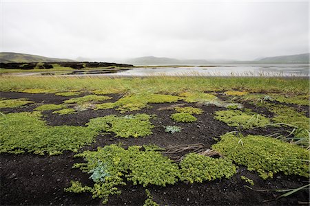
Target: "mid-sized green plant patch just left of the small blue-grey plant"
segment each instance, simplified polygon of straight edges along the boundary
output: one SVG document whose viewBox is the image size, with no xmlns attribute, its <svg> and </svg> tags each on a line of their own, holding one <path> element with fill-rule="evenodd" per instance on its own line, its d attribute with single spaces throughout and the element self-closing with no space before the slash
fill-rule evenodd
<svg viewBox="0 0 310 206">
<path fill-rule="evenodd" d="M 152 134 L 154 126 L 149 122 L 151 117 L 146 114 L 125 115 L 117 117 L 108 115 L 90 119 L 87 126 L 98 132 L 112 132 L 116 137 L 145 137 Z"/>
</svg>

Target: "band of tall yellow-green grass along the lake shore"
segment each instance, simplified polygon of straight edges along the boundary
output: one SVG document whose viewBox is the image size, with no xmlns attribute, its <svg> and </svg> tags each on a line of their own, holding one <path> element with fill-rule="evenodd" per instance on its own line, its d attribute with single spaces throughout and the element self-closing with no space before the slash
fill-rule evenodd
<svg viewBox="0 0 310 206">
<path fill-rule="evenodd" d="M 33 77 L 2 76 L 0 91 L 50 89 L 55 91 L 102 90 L 119 92 L 180 93 L 182 91 L 246 90 L 251 92 L 309 94 L 305 78 L 267 77 L 144 77 L 110 78 L 104 76 Z"/>
</svg>

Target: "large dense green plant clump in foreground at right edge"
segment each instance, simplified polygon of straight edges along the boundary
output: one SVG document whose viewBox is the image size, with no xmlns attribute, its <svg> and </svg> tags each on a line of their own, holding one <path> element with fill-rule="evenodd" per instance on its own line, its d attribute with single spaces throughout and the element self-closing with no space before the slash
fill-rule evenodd
<svg viewBox="0 0 310 206">
<path fill-rule="evenodd" d="M 309 177 L 309 151 L 293 144 L 256 135 L 237 137 L 226 134 L 212 148 L 248 170 L 256 170 L 262 179 L 273 174 Z"/>
</svg>

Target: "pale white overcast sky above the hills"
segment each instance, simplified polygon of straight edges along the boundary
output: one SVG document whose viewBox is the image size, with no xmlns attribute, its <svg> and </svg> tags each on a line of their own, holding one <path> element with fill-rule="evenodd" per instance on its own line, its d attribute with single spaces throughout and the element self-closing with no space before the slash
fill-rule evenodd
<svg viewBox="0 0 310 206">
<path fill-rule="evenodd" d="M 252 60 L 309 52 L 308 1 L 1 1 L 1 52 Z"/>
</svg>

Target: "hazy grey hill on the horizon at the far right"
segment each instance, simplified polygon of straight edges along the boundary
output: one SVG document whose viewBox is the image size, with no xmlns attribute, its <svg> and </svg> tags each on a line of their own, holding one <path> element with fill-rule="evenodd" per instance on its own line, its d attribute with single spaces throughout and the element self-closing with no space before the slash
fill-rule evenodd
<svg viewBox="0 0 310 206">
<path fill-rule="evenodd" d="M 267 64 L 309 64 L 309 53 L 287 55 L 287 56 L 265 57 L 260 58 L 259 60 L 257 60 L 257 62 Z"/>
</svg>

